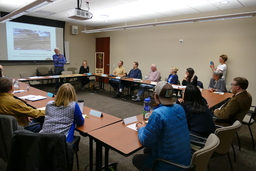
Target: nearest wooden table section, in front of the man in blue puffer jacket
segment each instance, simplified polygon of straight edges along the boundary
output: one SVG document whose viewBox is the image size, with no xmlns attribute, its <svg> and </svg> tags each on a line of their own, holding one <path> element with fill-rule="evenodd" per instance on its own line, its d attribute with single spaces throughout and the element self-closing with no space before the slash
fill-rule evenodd
<svg viewBox="0 0 256 171">
<path fill-rule="evenodd" d="M 137 116 L 142 120 L 142 114 Z M 129 124 L 128 124 L 129 125 Z M 88 133 L 90 141 L 96 142 L 96 171 L 102 170 L 102 147 L 105 147 L 105 170 L 108 170 L 109 150 L 129 156 L 143 148 L 139 139 L 138 132 L 128 128 L 123 122 L 117 122 L 107 127 L 97 129 Z M 90 147 L 90 151 L 93 150 Z M 91 162 L 93 163 L 93 162 Z M 93 170 L 93 165 L 90 165 Z"/>
</svg>

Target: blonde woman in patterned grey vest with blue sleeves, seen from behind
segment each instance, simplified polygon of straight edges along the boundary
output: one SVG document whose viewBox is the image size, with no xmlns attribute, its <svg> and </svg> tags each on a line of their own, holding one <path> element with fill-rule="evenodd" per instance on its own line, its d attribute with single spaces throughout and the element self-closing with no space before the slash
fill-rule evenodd
<svg viewBox="0 0 256 171">
<path fill-rule="evenodd" d="M 59 88 L 55 101 L 46 105 L 40 133 L 62 133 L 66 135 L 67 142 L 72 142 L 75 127 L 83 124 L 84 118 L 76 102 L 75 89 L 71 84 L 65 83 Z"/>
</svg>

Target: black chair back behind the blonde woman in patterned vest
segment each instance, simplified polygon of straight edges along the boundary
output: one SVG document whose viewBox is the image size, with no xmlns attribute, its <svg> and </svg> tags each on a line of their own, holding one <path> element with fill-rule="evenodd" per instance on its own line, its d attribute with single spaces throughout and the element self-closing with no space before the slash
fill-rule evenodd
<svg viewBox="0 0 256 171">
<path fill-rule="evenodd" d="M 64 134 L 14 132 L 7 171 L 71 171 L 72 166 L 73 150 Z"/>
</svg>

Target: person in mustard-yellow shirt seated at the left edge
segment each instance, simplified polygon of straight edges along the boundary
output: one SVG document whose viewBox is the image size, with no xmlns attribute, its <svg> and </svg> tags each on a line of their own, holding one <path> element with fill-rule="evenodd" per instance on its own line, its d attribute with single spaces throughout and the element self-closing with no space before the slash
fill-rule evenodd
<svg viewBox="0 0 256 171">
<path fill-rule="evenodd" d="M 45 111 L 34 109 L 28 106 L 24 101 L 15 98 L 12 94 L 13 91 L 12 79 L 0 77 L 0 113 L 15 117 L 20 126 L 28 126 L 36 122 L 42 122 L 43 118 L 39 117 L 44 116 Z M 39 132 L 41 125 L 34 125 L 25 129 Z"/>
</svg>

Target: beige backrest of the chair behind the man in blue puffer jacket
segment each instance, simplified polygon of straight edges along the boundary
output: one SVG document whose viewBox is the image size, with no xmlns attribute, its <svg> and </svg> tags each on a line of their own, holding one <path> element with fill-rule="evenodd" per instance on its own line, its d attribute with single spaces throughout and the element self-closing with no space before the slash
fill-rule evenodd
<svg viewBox="0 0 256 171">
<path fill-rule="evenodd" d="M 206 171 L 209 160 L 220 144 L 219 138 L 215 134 L 210 134 L 206 140 L 205 146 L 196 151 L 191 159 L 191 166 L 194 166 L 195 171 Z"/>
</svg>

